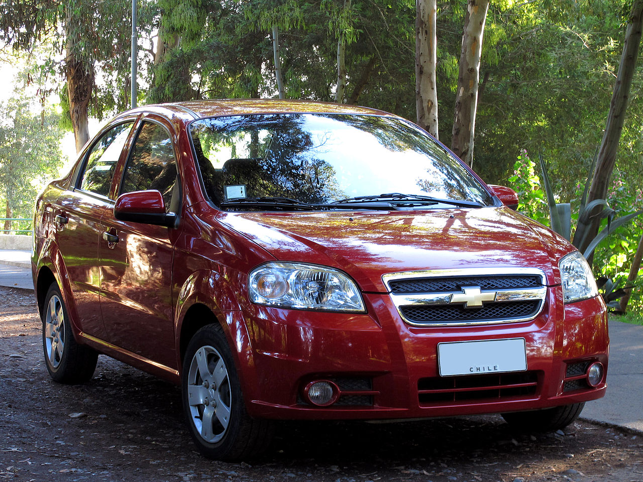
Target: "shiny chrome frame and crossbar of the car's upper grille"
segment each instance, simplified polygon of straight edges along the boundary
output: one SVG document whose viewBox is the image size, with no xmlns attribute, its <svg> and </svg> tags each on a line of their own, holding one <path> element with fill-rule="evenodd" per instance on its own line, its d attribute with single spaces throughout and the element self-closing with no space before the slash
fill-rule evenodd
<svg viewBox="0 0 643 482">
<path fill-rule="evenodd" d="M 518 289 L 502 289 L 502 277 L 511 277 L 516 275 L 532 275 L 538 276 L 541 280 L 541 286 L 533 288 L 518 288 Z M 476 285 L 471 285 L 467 283 L 466 278 L 475 278 L 476 276 L 497 276 L 499 289 L 497 290 L 480 290 L 480 287 Z M 395 294 L 392 292 L 390 283 L 392 281 L 399 280 L 423 280 L 423 279 L 444 279 L 444 278 L 464 278 L 460 280 L 460 290 L 449 291 L 449 292 L 440 292 L 440 293 L 411 293 L 411 294 Z M 520 321 L 529 321 L 534 319 L 540 314 L 545 305 L 545 297 L 547 296 L 547 278 L 545 273 L 538 268 L 514 268 L 514 269 L 504 269 L 504 268 L 490 268 L 490 269 L 452 269 L 452 270 L 426 270 L 426 271 L 408 271 L 408 272 L 397 272 L 397 273 L 387 273 L 382 276 L 382 281 L 384 282 L 388 294 L 391 297 L 397 312 L 402 317 L 402 319 L 413 326 L 469 326 L 469 325 L 494 325 L 498 323 L 518 323 Z M 404 309 L 406 307 L 426 307 L 437 308 L 437 307 L 464 307 L 464 311 L 480 309 L 480 301 L 469 299 L 468 302 L 462 304 L 455 303 L 453 301 L 453 295 L 458 294 L 460 296 L 457 299 L 462 299 L 462 294 L 464 290 L 473 289 L 472 292 L 475 292 L 478 295 L 482 295 L 485 298 L 485 303 L 520 303 L 520 302 L 533 302 L 538 301 L 536 309 L 530 311 L 529 316 L 520 316 L 520 317 L 511 317 L 511 318 L 502 318 L 502 319 L 485 319 L 482 321 L 473 320 L 473 319 L 453 319 L 453 320 L 444 320 L 440 322 L 436 321 L 413 321 L 408 319 L 404 315 Z M 495 298 L 493 298 L 495 294 Z M 493 299 L 493 301 L 489 301 Z M 472 303 L 473 307 L 469 307 L 469 302 Z M 476 304 L 477 303 L 477 304 Z M 472 316 L 473 317 L 473 316 Z"/>
</svg>

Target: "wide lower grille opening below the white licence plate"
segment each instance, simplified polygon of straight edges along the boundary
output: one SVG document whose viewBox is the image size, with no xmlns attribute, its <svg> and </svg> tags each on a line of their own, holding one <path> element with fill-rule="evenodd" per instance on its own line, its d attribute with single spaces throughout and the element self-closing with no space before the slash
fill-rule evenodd
<svg viewBox="0 0 643 482">
<path fill-rule="evenodd" d="M 417 388 L 421 406 L 533 398 L 538 393 L 538 372 L 432 377 L 420 379 Z"/>
</svg>

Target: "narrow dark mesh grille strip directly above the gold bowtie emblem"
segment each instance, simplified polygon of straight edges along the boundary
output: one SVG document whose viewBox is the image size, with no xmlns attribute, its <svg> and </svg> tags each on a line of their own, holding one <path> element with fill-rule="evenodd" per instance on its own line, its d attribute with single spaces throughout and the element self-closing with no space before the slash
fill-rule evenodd
<svg viewBox="0 0 643 482">
<path fill-rule="evenodd" d="M 457 276 L 452 278 L 410 278 L 390 281 L 395 294 L 442 293 L 479 286 L 481 290 L 525 289 L 542 286 L 540 276 Z"/>
</svg>

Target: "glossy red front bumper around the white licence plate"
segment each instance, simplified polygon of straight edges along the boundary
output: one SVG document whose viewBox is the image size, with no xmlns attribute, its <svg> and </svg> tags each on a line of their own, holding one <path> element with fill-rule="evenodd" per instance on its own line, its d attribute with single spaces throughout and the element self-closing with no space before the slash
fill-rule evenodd
<svg viewBox="0 0 643 482">
<path fill-rule="evenodd" d="M 599 298 L 564 306 L 560 287 L 552 287 L 545 308 L 531 321 L 436 328 L 404 323 L 386 294 L 364 298 L 367 314 L 259 305 L 230 313 L 229 323 L 245 326 L 248 334 L 248 356 L 238 362 L 250 415 L 431 418 L 541 409 L 605 393 L 605 379 L 595 388 L 583 379 L 589 363 L 608 366 L 607 320 Z M 527 371 L 439 376 L 438 343 L 516 337 L 526 342 Z M 336 383 L 338 402 L 306 403 L 303 387 L 314 380 Z"/>
</svg>

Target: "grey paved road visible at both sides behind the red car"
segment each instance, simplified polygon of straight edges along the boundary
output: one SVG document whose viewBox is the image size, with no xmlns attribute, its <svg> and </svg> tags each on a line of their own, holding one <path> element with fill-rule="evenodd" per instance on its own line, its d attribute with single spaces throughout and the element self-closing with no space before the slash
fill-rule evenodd
<svg viewBox="0 0 643 482">
<path fill-rule="evenodd" d="M 0 249 L 0 286 L 33 289 L 30 253 Z M 583 418 L 643 432 L 643 326 L 610 320 L 607 395 L 585 405 Z"/>
</svg>

